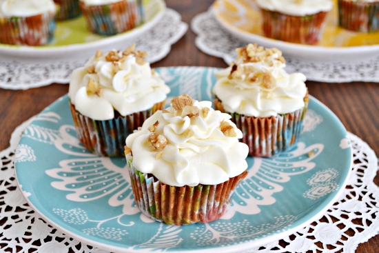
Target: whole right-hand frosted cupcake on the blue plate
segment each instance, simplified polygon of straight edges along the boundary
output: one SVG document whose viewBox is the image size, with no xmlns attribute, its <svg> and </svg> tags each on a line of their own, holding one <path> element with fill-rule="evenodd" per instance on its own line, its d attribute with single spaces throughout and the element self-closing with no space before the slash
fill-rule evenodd
<svg viewBox="0 0 379 253">
<path fill-rule="evenodd" d="M 216 110 L 232 115 L 252 156 L 273 156 L 298 141 L 307 112 L 306 77 L 287 74 L 276 48 L 256 44 L 238 48 L 229 68 L 216 72 Z"/>
</svg>

